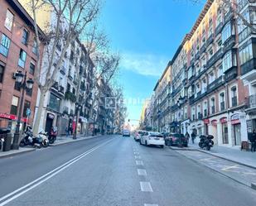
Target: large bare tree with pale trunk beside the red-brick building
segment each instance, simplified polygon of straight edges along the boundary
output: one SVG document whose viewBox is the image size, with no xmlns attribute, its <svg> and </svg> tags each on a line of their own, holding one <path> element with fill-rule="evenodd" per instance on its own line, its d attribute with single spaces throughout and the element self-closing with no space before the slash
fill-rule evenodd
<svg viewBox="0 0 256 206">
<path fill-rule="evenodd" d="M 50 7 L 50 11 L 55 16 L 55 22 L 49 22 L 50 25 L 46 30 L 44 55 L 46 55 L 47 65 L 42 69 L 40 69 L 39 61 L 36 65 L 35 81 L 40 89 L 40 97 L 34 125 L 35 133 L 39 130 L 46 92 L 56 80 L 56 74 L 60 70 L 65 52 L 71 42 L 79 38 L 80 34 L 85 32 L 89 23 L 97 17 L 100 9 L 100 0 L 31 0 L 30 7 L 34 19 L 37 46 L 41 45 L 37 15 L 45 6 Z M 60 55 L 57 56 L 56 49 L 59 45 L 62 48 Z M 39 52 L 38 55 L 40 55 Z"/>
</svg>

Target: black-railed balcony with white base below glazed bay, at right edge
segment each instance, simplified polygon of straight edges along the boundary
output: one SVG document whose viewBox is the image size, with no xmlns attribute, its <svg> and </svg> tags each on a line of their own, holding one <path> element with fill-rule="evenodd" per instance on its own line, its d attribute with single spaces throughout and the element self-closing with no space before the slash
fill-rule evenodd
<svg viewBox="0 0 256 206">
<path fill-rule="evenodd" d="M 241 79 L 249 82 L 256 79 L 256 58 L 241 65 L 241 75 L 243 75 Z"/>
</svg>

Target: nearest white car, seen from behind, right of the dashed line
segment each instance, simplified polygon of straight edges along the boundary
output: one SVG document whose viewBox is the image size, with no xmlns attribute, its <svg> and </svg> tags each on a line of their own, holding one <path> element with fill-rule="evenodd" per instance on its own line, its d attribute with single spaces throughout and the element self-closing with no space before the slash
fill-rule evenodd
<svg viewBox="0 0 256 206">
<path fill-rule="evenodd" d="M 159 132 L 145 132 L 140 139 L 141 145 L 155 145 L 155 146 L 163 146 L 165 145 L 164 138 Z"/>
</svg>

